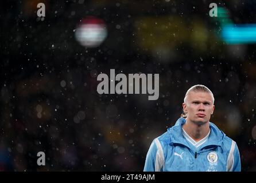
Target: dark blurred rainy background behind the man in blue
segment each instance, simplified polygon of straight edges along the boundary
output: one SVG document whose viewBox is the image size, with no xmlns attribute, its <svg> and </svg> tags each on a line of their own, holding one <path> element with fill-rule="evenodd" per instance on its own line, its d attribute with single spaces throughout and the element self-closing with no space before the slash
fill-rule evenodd
<svg viewBox="0 0 256 183">
<path fill-rule="evenodd" d="M 142 171 L 185 92 L 203 84 L 215 95 L 211 121 L 238 144 L 242 171 L 256 171 L 256 41 L 222 37 L 225 22 L 256 23 L 256 2 L 215 1 L 218 17 L 210 3 L 1 2 L 0 170 Z M 159 73 L 158 100 L 98 94 L 97 75 L 110 69 Z"/>
</svg>

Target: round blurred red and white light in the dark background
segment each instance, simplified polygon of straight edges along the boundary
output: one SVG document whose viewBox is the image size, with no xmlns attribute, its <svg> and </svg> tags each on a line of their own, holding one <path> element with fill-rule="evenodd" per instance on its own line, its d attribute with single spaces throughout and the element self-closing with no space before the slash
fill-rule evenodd
<svg viewBox="0 0 256 183">
<path fill-rule="evenodd" d="M 87 17 L 77 26 L 76 40 L 86 47 L 98 47 L 107 37 L 106 24 L 102 19 Z"/>
</svg>

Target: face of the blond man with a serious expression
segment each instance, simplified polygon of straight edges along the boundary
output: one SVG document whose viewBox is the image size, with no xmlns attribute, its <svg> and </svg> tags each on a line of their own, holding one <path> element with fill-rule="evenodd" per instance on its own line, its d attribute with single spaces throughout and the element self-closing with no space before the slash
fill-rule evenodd
<svg viewBox="0 0 256 183">
<path fill-rule="evenodd" d="M 198 125 L 210 121 L 211 114 L 214 113 L 214 104 L 210 93 L 189 92 L 183 109 L 187 112 L 187 120 Z"/>
</svg>

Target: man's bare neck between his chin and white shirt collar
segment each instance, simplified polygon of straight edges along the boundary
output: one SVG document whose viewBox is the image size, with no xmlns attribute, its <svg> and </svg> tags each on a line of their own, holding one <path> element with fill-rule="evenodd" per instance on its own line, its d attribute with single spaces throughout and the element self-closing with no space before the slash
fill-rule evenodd
<svg viewBox="0 0 256 183">
<path fill-rule="evenodd" d="M 210 122 L 205 122 L 204 124 L 196 124 L 195 122 L 186 120 L 183 125 L 183 129 L 187 134 L 193 138 L 196 142 L 200 141 L 202 138 L 207 136 L 210 131 Z"/>
</svg>

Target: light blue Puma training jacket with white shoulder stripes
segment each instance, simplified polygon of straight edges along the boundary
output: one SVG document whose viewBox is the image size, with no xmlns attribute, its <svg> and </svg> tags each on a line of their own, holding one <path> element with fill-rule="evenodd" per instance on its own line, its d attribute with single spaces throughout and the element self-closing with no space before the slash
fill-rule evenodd
<svg viewBox="0 0 256 183">
<path fill-rule="evenodd" d="M 210 122 L 208 140 L 199 148 L 193 148 L 183 136 L 182 125 L 185 122 L 185 118 L 179 118 L 172 128 L 168 128 L 167 132 L 153 140 L 143 171 L 241 171 L 241 160 L 235 141 Z"/>
</svg>

